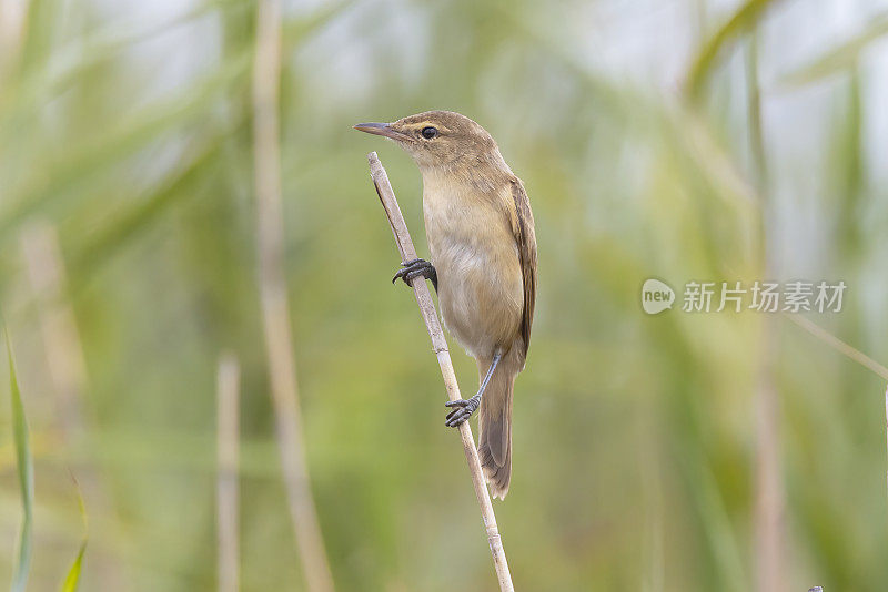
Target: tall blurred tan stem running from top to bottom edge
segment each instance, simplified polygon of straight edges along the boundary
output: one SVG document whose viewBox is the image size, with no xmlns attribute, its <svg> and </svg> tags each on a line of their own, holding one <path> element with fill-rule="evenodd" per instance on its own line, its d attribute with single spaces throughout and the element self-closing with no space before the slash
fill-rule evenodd
<svg viewBox="0 0 888 592">
<path fill-rule="evenodd" d="M 281 2 L 260 0 L 253 64 L 253 156 L 262 323 L 278 443 L 302 567 L 311 592 L 332 592 L 333 578 L 309 480 L 283 271 L 280 84 Z"/>
</svg>

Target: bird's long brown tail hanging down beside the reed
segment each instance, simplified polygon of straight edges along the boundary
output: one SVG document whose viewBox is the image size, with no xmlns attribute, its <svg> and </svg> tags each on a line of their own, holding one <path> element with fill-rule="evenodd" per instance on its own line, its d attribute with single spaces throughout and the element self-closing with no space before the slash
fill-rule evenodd
<svg viewBox="0 0 888 592">
<path fill-rule="evenodd" d="M 491 493 L 501 500 L 508 493 L 508 482 L 512 479 L 512 392 L 517 374 L 505 361 L 504 359 L 500 363 L 491 377 L 478 410 L 481 467 L 491 484 Z M 483 364 L 478 364 L 483 379 L 487 366 L 482 366 Z"/>
</svg>

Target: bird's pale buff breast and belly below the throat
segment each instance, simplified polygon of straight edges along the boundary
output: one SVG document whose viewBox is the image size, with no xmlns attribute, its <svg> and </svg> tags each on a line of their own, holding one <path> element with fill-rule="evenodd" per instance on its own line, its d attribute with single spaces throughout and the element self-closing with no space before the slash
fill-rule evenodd
<svg viewBox="0 0 888 592">
<path fill-rule="evenodd" d="M 423 215 L 444 323 L 475 357 L 508 348 L 524 286 L 515 238 L 497 196 L 424 183 Z"/>
</svg>

